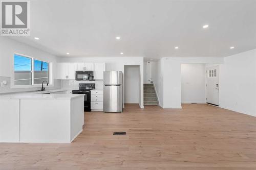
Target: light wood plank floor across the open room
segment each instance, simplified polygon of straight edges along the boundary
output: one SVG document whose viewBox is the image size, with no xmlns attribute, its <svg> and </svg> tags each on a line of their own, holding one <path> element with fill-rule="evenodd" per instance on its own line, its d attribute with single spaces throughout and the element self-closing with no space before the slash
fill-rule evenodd
<svg viewBox="0 0 256 170">
<path fill-rule="evenodd" d="M 0 143 L 0 169 L 256 169 L 256 117 L 182 107 L 87 112 L 72 143 Z"/>
</svg>

